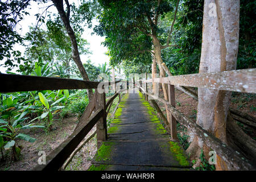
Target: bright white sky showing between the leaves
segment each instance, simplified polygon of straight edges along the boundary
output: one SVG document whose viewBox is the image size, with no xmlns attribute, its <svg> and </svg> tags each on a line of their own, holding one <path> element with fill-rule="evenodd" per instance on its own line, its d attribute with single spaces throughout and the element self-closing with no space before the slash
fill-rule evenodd
<svg viewBox="0 0 256 182">
<path fill-rule="evenodd" d="M 79 2 L 78 0 L 69 0 L 69 3 L 72 2 Z M 16 27 L 16 30 L 19 32 L 20 35 L 25 35 L 26 32 L 28 32 L 29 30 L 29 26 L 31 26 L 32 24 L 36 24 L 36 16 L 34 16 L 37 13 L 43 13 L 43 11 L 45 10 L 45 7 L 48 5 L 51 5 L 52 2 L 48 2 L 46 4 L 40 4 L 38 5 L 38 3 L 31 1 L 31 9 L 28 9 L 27 11 L 30 13 L 30 15 L 26 15 L 24 16 L 24 19 L 21 20 L 19 22 L 19 24 Z M 57 14 L 57 10 L 55 6 L 51 6 L 49 7 L 48 11 L 51 11 L 52 13 L 56 13 Z M 97 20 L 94 19 L 93 20 L 93 27 L 97 24 Z M 19 30 L 21 28 L 21 30 Z M 40 28 L 45 29 L 46 26 L 44 24 L 42 24 L 42 26 L 40 26 Z M 92 52 L 91 55 L 80 55 L 81 61 L 82 63 L 85 63 L 86 60 L 90 59 L 92 61 L 92 63 L 94 65 L 98 65 L 98 64 L 104 64 L 105 62 L 109 64 L 109 57 L 107 55 L 105 55 L 105 52 L 107 51 L 107 48 L 104 47 L 103 45 L 101 45 L 101 42 L 104 41 L 104 37 L 101 36 L 97 36 L 96 34 L 91 35 L 91 33 L 93 32 L 92 28 L 84 28 L 84 34 L 82 34 L 82 38 L 86 39 L 87 42 L 90 44 L 89 49 L 90 52 Z M 16 44 L 14 46 L 14 49 L 19 50 L 20 52 L 24 52 L 25 48 L 23 46 L 20 46 L 18 44 Z M 0 71 L 2 73 L 5 73 L 6 68 L 0 67 Z M 12 70 L 12 72 L 15 72 L 15 69 Z"/>
</svg>

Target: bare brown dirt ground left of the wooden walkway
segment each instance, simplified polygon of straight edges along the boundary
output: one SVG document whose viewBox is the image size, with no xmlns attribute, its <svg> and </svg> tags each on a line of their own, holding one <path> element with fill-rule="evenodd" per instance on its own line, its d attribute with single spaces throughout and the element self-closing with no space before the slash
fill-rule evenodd
<svg viewBox="0 0 256 182">
<path fill-rule="evenodd" d="M 68 118 L 63 120 L 55 119 L 55 122 L 53 122 L 53 131 L 48 134 L 42 129 L 34 128 L 30 131 L 23 130 L 24 134 L 29 134 L 31 137 L 36 138 L 36 141 L 30 143 L 24 140 L 18 140 L 18 145 L 22 146 L 20 160 L 10 163 L 10 155 L 6 152 L 5 161 L 0 163 L 0 170 L 27 171 L 33 169 L 38 164 L 38 159 L 40 158 L 38 155 L 39 151 L 45 151 L 46 155 L 48 155 L 72 134 L 77 125 L 77 121 L 77 117 L 72 117 L 72 115 L 69 115 Z M 94 127 L 87 137 L 89 137 L 95 129 Z M 75 155 L 66 170 L 86 170 L 90 166 L 90 160 L 93 158 L 96 151 L 96 139 L 94 137 Z"/>
</svg>

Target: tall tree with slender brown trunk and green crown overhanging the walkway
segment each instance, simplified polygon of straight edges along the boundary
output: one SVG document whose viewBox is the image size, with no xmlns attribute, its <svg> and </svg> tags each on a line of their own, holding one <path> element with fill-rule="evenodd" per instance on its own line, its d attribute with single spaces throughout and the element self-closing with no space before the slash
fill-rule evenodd
<svg viewBox="0 0 256 182">
<path fill-rule="evenodd" d="M 105 45 L 115 61 L 130 60 L 139 57 L 138 54 L 143 54 L 143 57 L 152 55 L 158 64 L 160 77 L 164 77 L 166 73 L 162 67 L 161 50 L 173 46 L 171 35 L 179 2 L 101 0 L 104 11 L 100 15 L 99 26 L 94 30 L 106 36 Z M 171 10 L 175 11 L 170 30 L 163 32 L 159 27 L 159 18 Z M 167 35 L 165 40 L 161 39 L 162 34 Z M 168 100 L 167 85 L 162 84 L 162 88 L 164 98 Z M 167 110 L 167 117 L 169 115 Z"/>
</svg>

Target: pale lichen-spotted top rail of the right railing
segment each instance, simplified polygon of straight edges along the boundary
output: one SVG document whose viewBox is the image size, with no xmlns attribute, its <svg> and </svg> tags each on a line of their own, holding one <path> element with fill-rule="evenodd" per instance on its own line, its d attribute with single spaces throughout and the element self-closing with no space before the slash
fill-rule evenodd
<svg viewBox="0 0 256 182">
<path fill-rule="evenodd" d="M 161 82 L 164 84 L 191 86 L 228 90 L 236 92 L 256 93 L 256 68 L 233 71 L 198 73 L 171 77 L 142 80 L 143 82 Z"/>
</svg>

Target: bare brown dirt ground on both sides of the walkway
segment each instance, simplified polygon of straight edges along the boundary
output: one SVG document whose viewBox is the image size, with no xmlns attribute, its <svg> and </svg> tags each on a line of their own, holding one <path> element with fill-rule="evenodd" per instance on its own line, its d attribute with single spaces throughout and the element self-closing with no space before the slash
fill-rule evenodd
<svg viewBox="0 0 256 182">
<path fill-rule="evenodd" d="M 159 93 L 160 97 L 163 97 L 163 92 Z M 175 90 L 175 98 L 176 108 L 179 109 L 181 113 L 184 113 L 187 117 L 193 119 L 193 121 L 196 121 L 197 101 L 193 100 L 191 97 L 187 96 L 187 94 L 184 94 L 179 90 Z M 158 104 L 163 110 L 163 113 L 166 114 L 165 106 L 160 103 Z M 256 94 L 233 94 L 232 102 L 230 104 L 230 107 L 245 111 L 247 114 L 256 117 L 255 106 Z M 18 140 L 19 146 L 22 146 L 20 160 L 18 162 L 10 163 L 10 156 L 6 152 L 6 160 L 4 162 L 0 162 L 0 170 L 26 171 L 33 169 L 38 164 L 38 159 L 40 157 L 38 155 L 39 151 L 45 151 L 46 155 L 48 155 L 52 150 L 59 146 L 61 142 L 72 134 L 77 121 L 77 117 L 73 117 L 72 115 L 69 115 L 68 118 L 63 120 L 56 118 L 55 122 L 53 122 L 53 131 L 51 131 L 49 134 L 46 134 L 42 129 L 25 131 L 25 134 L 30 134 L 31 137 L 36 138 L 36 141 L 34 143 L 29 143 L 24 140 Z M 86 138 L 88 138 L 94 130 L 95 127 L 92 129 L 92 131 L 90 131 Z M 97 145 L 96 138 L 94 137 L 75 155 L 66 170 L 83 171 L 88 169 L 90 166 L 90 160 L 92 160 L 93 156 L 96 154 L 96 151 Z"/>
</svg>

